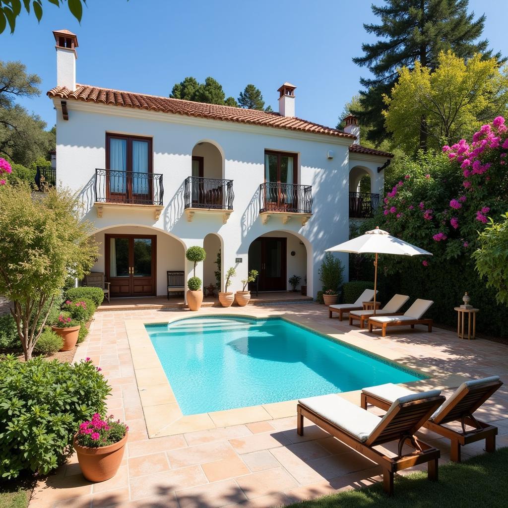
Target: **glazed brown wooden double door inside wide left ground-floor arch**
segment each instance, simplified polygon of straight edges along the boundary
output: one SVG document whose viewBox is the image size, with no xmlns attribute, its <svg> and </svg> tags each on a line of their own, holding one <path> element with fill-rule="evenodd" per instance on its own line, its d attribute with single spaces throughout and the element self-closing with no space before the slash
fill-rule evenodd
<svg viewBox="0 0 508 508">
<path fill-rule="evenodd" d="M 156 235 L 105 235 L 112 297 L 156 296 Z"/>
</svg>

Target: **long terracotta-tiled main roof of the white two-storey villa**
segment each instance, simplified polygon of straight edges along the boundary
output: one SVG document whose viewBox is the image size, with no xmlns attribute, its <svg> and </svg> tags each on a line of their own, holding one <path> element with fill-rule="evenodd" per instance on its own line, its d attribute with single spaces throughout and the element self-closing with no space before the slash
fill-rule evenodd
<svg viewBox="0 0 508 508">
<path fill-rule="evenodd" d="M 47 92 L 51 99 L 60 98 L 91 102 L 96 104 L 111 104 L 124 108 L 144 109 L 163 113 L 173 113 L 212 120 L 248 123 L 251 125 L 263 125 L 291 131 L 325 134 L 340 138 L 354 139 L 355 136 L 338 129 L 325 127 L 318 123 L 302 120 L 297 117 L 281 116 L 278 113 L 268 113 L 255 109 L 242 109 L 232 106 L 220 106 L 217 104 L 204 104 L 200 102 L 182 101 L 169 97 L 158 97 L 143 93 L 112 90 L 90 85 L 76 85 L 75 90 L 56 86 Z"/>
</svg>

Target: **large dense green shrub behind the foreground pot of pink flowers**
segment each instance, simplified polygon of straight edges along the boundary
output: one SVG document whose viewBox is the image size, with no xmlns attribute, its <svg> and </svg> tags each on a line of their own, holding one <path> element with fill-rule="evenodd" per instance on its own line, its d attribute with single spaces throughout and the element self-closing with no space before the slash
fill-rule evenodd
<svg viewBox="0 0 508 508">
<path fill-rule="evenodd" d="M 79 424 L 105 415 L 110 387 L 90 361 L 0 361 L 0 478 L 48 474 L 71 451 Z"/>
</svg>

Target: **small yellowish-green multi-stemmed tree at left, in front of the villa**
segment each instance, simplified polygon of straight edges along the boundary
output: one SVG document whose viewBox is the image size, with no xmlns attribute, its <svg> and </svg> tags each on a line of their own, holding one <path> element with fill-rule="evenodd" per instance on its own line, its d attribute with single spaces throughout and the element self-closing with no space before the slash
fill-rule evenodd
<svg viewBox="0 0 508 508">
<path fill-rule="evenodd" d="M 25 360 L 67 277 L 82 278 L 98 256 L 92 226 L 78 211 L 69 190 L 50 188 L 43 200 L 34 200 L 26 182 L 0 189 L 0 294 L 13 303 Z"/>
</svg>

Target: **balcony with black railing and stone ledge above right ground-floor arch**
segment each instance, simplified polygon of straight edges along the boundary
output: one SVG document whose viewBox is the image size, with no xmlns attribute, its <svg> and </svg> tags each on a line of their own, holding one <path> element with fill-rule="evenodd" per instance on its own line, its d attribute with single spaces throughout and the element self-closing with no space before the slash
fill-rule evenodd
<svg viewBox="0 0 508 508">
<path fill-rule="evenodd" d="M 280 214 L 283 224 L 299 217 L 305 226 L 312 215 L 312 186 L 296 183 L 265 182 L 259 186 L 259 214 L 263 224 Z"/>
</svg>

